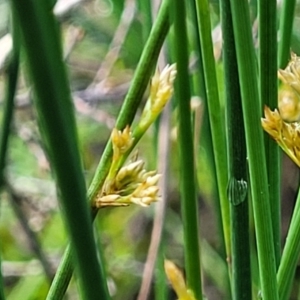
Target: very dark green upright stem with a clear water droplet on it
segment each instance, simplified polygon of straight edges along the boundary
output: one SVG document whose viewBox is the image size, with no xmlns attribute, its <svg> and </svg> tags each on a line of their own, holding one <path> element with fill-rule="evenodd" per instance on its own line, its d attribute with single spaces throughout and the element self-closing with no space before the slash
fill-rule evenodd
<svg viewBox="0 0 300 300">
<path fill-rule="evenodd" d="M 226 90 L 229 185 L 231 210 L 232 295 L 251 300 L 249 203 L 247 199 L 246 141 L 242 99 L 229 0 L 221 1 L 223 63 Z"/>
</svg>

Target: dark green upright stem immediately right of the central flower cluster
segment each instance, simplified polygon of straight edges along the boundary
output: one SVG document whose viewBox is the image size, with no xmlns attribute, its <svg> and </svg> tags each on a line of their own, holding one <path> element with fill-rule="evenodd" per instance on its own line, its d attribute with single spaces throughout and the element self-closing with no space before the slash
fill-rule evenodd
<svg viewBox="0 0 300 300">
<path fill-rule="evenodd" d="M 184 231 L 185 267 L 188 288 L 196 299 L 202 299 L 198 205 L 196 199 L 194 146 L 192 137 L 190 82 L 188 73 L 188 41 L 184 1 L 173 2 L 174 56 L 177 63 L 175 95 L 178 101 L 179 157 L 181 203 Z"/>
</svg>

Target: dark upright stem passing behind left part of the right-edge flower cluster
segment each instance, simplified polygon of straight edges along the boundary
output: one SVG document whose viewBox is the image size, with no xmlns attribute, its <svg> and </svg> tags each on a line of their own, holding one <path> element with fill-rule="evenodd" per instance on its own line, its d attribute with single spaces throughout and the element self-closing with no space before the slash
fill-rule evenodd
<svg viewBox="0 0 300 300">
<path fill-rule="evenodd" d="M 259 1 L 259 96 L 271 109 L 277 107 L 277 28 L 276 0 Z M 277 144 L 266 138 L 266 159 L 276 269 L 280 246 L 280 152 Z"/>
</svg>

